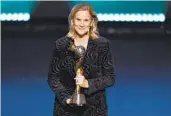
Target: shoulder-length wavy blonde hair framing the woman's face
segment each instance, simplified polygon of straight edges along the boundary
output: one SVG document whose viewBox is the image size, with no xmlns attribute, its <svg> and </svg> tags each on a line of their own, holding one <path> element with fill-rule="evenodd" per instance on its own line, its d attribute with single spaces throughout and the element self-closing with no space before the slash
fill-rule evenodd
<svg viewBox="0 0 171 116">
<path fill-rule="evenodd" d="M 97 18 L 97 15 L 93 9 L 93 7 L 91 7 L 90 5 L 88 4 L 78 4 L 76 6 L 74 6 L 69 14 L 69 17 L 68 17 L 68 22 L 69 22 L 69 32 L 67 34 L 68 37 L 74 39 L 75 35 L 76 35 L 76 32 L 75 32 L 75 29 L 73 27 L 73 24 L 72 24 L 72 20 L 74 19 L 75 17 L 75 14 L 78 12 L 78 11 L 81 11 L 81 10 L 87 10 L 89 11 L 90 15 L 91 15 L 91 18 L 92 18 L 92 23 L 90 25 L 90 30 L 89 30 L 89 36 L 90 38 L 92 39 L 97 39 L 98 38 L 98 31 L 97 31 L 97 23 L 98 23 L 98 18 Z"/>
</svg>

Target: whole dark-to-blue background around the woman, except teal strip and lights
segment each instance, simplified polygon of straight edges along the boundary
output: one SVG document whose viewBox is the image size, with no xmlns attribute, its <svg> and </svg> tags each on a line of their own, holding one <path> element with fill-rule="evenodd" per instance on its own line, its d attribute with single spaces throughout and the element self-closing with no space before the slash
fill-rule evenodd
<svg viewBox="0 0 171 116">
<path fill-rule="evenodd" d="M 52 115 L 47 73 L 53 43 L 68 31 L 71 7 L 54 3 L 39 2 L 28 22 L 1 22 L 2 116 Z M 115 58 L 116 84 L 107 89 L 109 116 L 171 116 L 169 12 L 164 23 L 99 22 Z"/>
</svg>

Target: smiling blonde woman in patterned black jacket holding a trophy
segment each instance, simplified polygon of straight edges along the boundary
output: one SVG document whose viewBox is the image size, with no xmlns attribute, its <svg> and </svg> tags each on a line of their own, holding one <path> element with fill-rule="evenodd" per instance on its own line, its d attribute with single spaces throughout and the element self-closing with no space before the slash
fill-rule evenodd
<svg viewBox="0 0 171 116">
<path fill-rule="evenodd" d="M 69 15 L 70 29 L 55 42 L 48 84 L 55 93 L 54 116 L 107 116 L 105 88 L 114 84 L 109 41 L 97 32 L 97 16 L 88 4 L 76 5 Z M 71 45 L 86 49 L 82 75 L 75 74 L 76 55 Z M 72 106 L 76 85 L 83 88 L 86 105 Z"/>
</svg>

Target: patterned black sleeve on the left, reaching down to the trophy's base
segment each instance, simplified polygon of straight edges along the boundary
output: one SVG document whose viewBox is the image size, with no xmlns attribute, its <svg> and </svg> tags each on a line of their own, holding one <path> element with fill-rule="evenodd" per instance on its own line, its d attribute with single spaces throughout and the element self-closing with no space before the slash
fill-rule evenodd
<svg viewBox="0 0 171 116">
<path fill-rule="evenodd" d="M 59 102 L 63 105 L 66 105 L 66 100 L 71 97 L 71 92 L 66 89 L 60 82 L 61 74 L 61 61 L 59 46 L 55 45 L 53 50 L 52 60 L 48 72 L 48 84 L 57 96 Z"/>
</svg>

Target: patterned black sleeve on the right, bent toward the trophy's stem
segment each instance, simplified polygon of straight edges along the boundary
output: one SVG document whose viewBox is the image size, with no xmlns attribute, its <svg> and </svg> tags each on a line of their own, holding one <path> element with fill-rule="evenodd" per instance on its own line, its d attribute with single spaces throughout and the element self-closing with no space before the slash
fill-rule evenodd
<svg viewBox="0 0 171 116">
<path fill-rule="evenodd" d="M 88 79 L 89 88 L 85 90 L 90 95 L 98 90 L 103 90 L 111 86 L 115 82 L 114 62 L 109 42 L 100 45 L 99 62 L 101 65 L 101 73 L 97 73 L 97 77 Z"/>
</svg>

